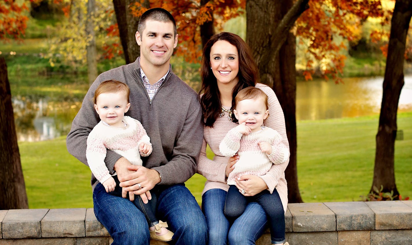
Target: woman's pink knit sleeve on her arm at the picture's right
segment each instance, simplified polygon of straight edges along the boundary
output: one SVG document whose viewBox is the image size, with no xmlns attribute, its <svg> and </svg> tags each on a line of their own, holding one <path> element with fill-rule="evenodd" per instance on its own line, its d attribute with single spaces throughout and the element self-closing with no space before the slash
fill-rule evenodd
<svg viewBox="0 0 412 245">
<path fill-rule="evenodd" d="M 263 121 L 263 125 L 276 130 L 282 136 L 282 143 L 289 152 L 289 142 L 286 135 L 285 117 L 283 116 L 283 110 L 278 98 L 276 97 L 276 94 L 271 88 L 269 88 L 269 86 L 257 84 L 256 87 L 262 89 L 262 91 L 264 91 L 268 97 L 269 117 L 267 117 L 267 119 Z M 280 164 L 272 164 L 272 167 L 269 169 L 269 171 L 265 175 L 260 176 L 262 180 L 264 180 L 267 184 L 270 193 L 272 193 L 275 189 L 288 164 L 289 157 Z"/>
</svg>

